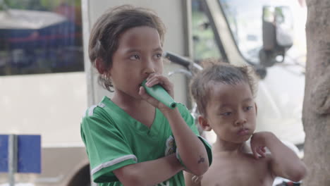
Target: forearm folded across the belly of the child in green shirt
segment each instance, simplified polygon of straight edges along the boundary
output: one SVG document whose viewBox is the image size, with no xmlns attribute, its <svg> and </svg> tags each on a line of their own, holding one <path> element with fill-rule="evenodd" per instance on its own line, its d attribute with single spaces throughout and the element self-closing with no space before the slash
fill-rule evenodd
<svg viewBox="0 0 330 186">
<path fill-rule="evenodd" d="M 114 170 L 123 185 L 157 185 L 183 170 L 176 154 L 160 159 L 130 164 Z"/>
</svg>

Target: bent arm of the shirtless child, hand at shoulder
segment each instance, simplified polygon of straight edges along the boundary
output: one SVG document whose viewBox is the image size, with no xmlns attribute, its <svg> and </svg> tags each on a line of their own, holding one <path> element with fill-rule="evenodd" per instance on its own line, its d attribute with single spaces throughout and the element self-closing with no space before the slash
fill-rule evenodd
<svg viewBox="0 0 330 186">
<path fill-rule="evenodd" d="M 298 156 L 271 132 L 257 132 L 251 138 L 255 156 L 264 156 L 263 147 L 271 151 L 271 171 L 276 176 L 298 182 L 305 177 L 307 169 Z M 257 158 L 257 156 L 256 156 Z"/>
</svg>

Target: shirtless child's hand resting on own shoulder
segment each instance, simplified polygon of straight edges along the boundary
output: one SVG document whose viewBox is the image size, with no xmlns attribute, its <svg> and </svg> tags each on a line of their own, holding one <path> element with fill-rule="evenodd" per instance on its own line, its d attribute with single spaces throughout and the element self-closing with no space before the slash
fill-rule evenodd
<svg viewBox="0 0 330 186">
<path fill-rule="evenodd" d="M 266 157 L 266 149 L 267 147 L 267 135 L 269 135 L 270 132 L 255 132 L 255 134 L 251 137 L 251 149 L 253 156 L 255 156 L 255 159 L 259 159 L 259 156 L 262 158 Z"/>
</svg>

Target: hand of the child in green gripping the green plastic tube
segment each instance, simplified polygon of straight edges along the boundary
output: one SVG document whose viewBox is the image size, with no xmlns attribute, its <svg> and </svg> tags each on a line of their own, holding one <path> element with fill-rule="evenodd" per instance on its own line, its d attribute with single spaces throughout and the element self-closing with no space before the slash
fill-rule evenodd
<svg viewBox="0 0 330 186">
<path fill-rule="evenodd" d="M 159 73 L 152 73 L 151 75 L 149 75 L 149 77 L 147 77 L 147 82 L 146 82 L 147 87 L 152 87 L 158 84 L 161 85 L 161 87 L 163 87 L 166 90 L 166 92 L 169 93 L 169 95 L 173 98 L 173 84 L 169 81 L 167 77 Z M 145 88 L 142 86 L 140 87 L 139 94 L 142 97 L 142 99 L 145 99 L 145 101 L 147 101 L 149 104 L 152 104 L 152 106 L 155 106 L 160 110 L 168 109 L 167 106 L 165 106 L 157 99 L 154 99 L 154 97 L 147 94 L 147 92 L 145 92 Z"/>
</svg>

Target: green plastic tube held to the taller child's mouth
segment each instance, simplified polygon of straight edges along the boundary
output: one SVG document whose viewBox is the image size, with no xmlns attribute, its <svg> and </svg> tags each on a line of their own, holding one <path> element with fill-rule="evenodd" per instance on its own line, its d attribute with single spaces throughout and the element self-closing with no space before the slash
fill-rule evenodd
<svg viewBox="0 0 330 186">
<path fill-rule="evenodd" d="M 162 104 L 168 106 L 170 109 L 176 108 L 176 101 L 173 100 L 173 98 L 169 95 L 169 93 L 166 92 L 166 90 L 161 87 L 161 85 L 154 85 L 152 87 L 147 87 L 145 83 L 147 80 L 144 80 L 142 82 L 142 87 L 145 88 L 145 91 L 154 99 L 157 99 Z"/>
</svg>

